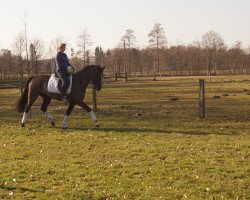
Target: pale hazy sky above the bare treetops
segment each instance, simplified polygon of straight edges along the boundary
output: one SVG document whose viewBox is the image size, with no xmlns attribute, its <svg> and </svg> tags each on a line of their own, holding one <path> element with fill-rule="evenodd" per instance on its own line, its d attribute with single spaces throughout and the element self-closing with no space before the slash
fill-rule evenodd
<svg viewBox="0 0 250 200">
<path fill-rule="evenodd" d="M 63 37 L 76 47 L 76 38 L 87 29 L 92 48 L 114 48 L 127 29 L 133 29 L 137 46 L 148 45 L 155 22 L 162 24 L 168 45 L 191 44 L 210 30 L 230 47 L 241 41 L 250 46 L 250 0 L 0 0 L 0 49 L 11 49 L 24 29 L 28 38 L 39 38 L 48 47 Z"/>
</svg>

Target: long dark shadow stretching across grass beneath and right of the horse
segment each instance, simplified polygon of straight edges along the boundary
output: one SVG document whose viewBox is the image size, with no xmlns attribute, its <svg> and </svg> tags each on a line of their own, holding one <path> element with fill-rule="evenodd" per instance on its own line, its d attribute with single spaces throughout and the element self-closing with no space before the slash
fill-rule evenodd
<svg viewBox="0 0 250 200">
<path fill-rule="evenodd" d="M 65 130 L 89 131 L 88 128 L 72 127 Z M 166 130 L 166 129 L 149 129 L 149 128 L 93 128 L 94 131 L 100 132 L 117 132 L 117 133 L 162 133 L 162 134 L 187 134 L 187 135 L 232 135 L 218 132 L 206 132 L 201 130 Z M 237 133 L 235 133 L 237 134 Z"/>
</svg>

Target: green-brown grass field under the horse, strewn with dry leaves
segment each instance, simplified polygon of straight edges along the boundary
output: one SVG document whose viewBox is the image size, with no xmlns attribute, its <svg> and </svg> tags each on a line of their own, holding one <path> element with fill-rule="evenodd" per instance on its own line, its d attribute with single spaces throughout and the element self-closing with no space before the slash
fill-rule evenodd
<svg viewBox="0 0 250 200">
<path fill-rule="evenodd" d="M 51 127 L 40 100 L 22 128 L 0 90 L 0 199 L 250 199 L 250 77 L 206 81 L 205 120 L 198 79 L 104 84 L 98 129 L 77 107 L 62 129 L 56 101 Z"/>
</svg>

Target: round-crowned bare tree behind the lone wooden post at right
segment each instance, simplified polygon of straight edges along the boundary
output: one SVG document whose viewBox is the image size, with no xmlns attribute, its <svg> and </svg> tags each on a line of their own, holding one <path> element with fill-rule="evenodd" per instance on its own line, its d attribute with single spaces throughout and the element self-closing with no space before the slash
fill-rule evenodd
<svg viewBox="0 0 250 200">
<path fill-rule="evenodd" d="M 213 58 L 216 52 L 224 47 L 224 41 L 218 33 L 214 31 L 208 31 L 202 35 L 200 46 L 208 59 L 208 76 L 210 80 Z"/>
</svg>

